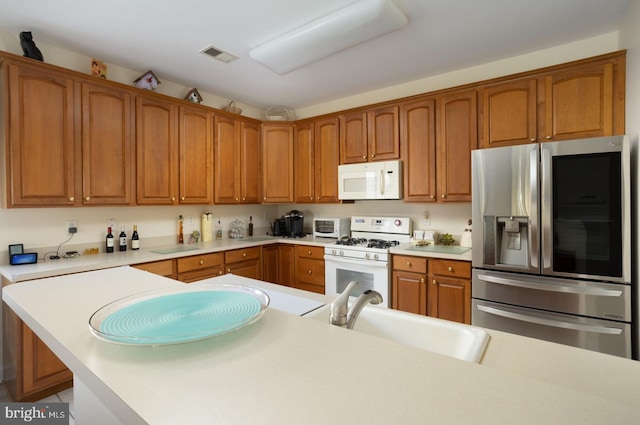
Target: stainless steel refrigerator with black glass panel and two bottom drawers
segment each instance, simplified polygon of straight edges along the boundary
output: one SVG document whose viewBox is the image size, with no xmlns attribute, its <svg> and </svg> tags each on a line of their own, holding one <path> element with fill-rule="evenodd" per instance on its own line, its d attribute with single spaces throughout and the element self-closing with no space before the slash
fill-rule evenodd
<svg viewBox="0 0 640 425">
<path fill-rule="evenodd" d="M 626 136 L 472 153 L 474 325 L 637 358 Z"/>
</svg>

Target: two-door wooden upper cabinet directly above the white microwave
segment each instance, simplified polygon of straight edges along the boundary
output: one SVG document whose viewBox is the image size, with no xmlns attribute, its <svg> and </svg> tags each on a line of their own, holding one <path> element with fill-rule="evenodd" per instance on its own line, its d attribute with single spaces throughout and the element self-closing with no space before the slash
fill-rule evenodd
<svg viewBox="0 0 640 425">
<path fill-rule="evenodd" d="M 340 163 L 400 158 L 399 106 L 340 116 Z"/>
</svg>

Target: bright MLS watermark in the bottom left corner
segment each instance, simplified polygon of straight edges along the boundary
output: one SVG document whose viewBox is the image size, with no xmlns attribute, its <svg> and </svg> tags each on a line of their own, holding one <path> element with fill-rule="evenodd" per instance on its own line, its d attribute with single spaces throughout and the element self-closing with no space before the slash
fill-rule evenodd
<svg viewBox="0 0 640 425">
<path fill-rule="evenodd" d="M 0 425 L 69 425 L 69 403 L 0 403 Z"/>
</svg>

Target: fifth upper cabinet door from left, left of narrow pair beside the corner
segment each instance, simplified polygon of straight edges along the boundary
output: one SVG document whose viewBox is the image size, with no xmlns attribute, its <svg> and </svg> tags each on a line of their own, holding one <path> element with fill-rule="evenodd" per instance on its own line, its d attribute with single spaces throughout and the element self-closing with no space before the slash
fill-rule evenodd
<svg viewBox="0 0 640 425">
<path fill-rule="evenodd" d="M 240 123 L 227 116 L 214 118 L 214 202 L 240 202 Z"/>
</svg>

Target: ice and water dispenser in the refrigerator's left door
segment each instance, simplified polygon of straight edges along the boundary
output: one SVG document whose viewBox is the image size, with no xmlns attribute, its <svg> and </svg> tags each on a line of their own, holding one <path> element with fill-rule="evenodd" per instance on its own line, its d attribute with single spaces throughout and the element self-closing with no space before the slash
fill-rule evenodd
<svg viewBox="0 0 640 425">
<path fill-rule="evenodd" d="M 484 264 L 529 269 L 529 217 L 484 216 Z"/>
</svg>

